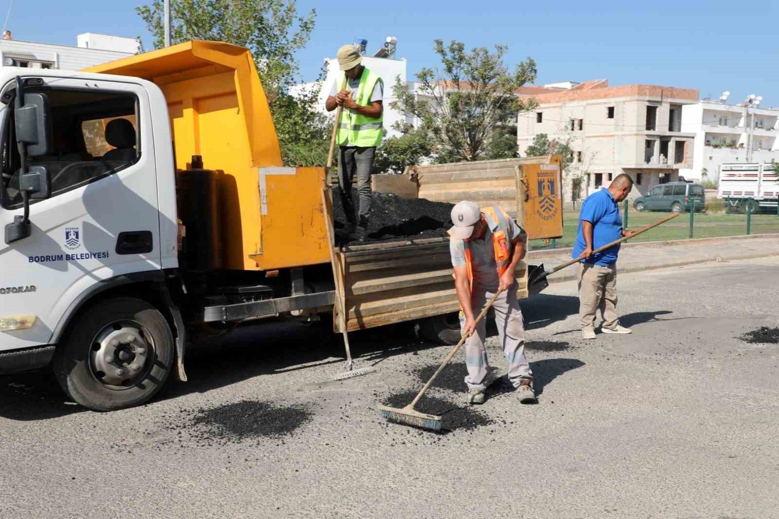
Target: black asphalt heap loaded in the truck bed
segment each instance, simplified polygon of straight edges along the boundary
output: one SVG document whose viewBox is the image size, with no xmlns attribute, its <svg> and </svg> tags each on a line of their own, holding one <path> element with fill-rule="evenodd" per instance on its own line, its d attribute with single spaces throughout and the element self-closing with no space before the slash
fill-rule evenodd
<svg viewBox="0 0 779 519">
<path fill-rule="evenodd" d="M 352 191 L 355 210 L 360 196 Z M 453 204 L 432 202 L 427 199 L 405 199 L 384 192 L 372 194 L 371 217 L 368 221 L 368 238 L 365 242 L 397 242 L 409 239 L 442 238 L 452 227 Z M 346 223 L 340 191 L 333 189 L 333 227 L 343 228 Z M 341 245 L 347 242 L 337 240 Z"/>
</svg>

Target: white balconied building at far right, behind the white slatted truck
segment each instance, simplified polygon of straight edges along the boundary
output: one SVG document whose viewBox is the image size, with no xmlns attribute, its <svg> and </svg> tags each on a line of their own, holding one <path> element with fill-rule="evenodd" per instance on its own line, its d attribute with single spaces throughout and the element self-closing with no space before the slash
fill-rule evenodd
<svg viewBox="0 0 779 519">
<path fill-rule="evenodd" d="M 716 180 L 720 164 L 779 161 L 779 110 L 700 101 L 682 106 L 682 132 L 695 133 L 687 180 Z"/>
</svg>

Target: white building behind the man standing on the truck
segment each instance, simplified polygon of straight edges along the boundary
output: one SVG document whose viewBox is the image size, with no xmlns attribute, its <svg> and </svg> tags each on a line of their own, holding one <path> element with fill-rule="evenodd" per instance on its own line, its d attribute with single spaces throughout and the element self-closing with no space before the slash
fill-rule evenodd
<svg viewBox="0 0 779 519">
<path fill-rule="evenodd" d="M 361 51 L 365 53 L 365 47 L 367 41 L 358 41 L 358 45 L 361 46 Z M 396 122 L 406 122 L 406 116 L 400 111 L 394 110 L 390 107 L 390 103 L 396 101 L 396 97 L 393 94 L 393 86 L 395 79 L 400 77 L 401 83 L 406 83 L 406 58 L 396 59 L 394 48 L 397 44 L 397 38 L 387 37 L 385 44 L 374 56 L 364 55 L 362 58 L 362 64 L 373 72 L 379 74 L 384 81 L 384 99 L 382 106 L 384 108 L 384 138 L 398 136 L 399 132 L 393 129 L 393 125 Z M 336 51 L 337 49 L 333 49 Z M 338 68 L 338 60 L 336 58 L 325 58 L 325 64 L 327 67 L 327 76 L 322 83 L 322 89 L 319 90 L 319 102 L 317 104 L 318 110 L 323 114 L 327 113 L 325 109 L 325 101 L 327 96 L 330 95 L 330 90 L 333 88 L 333 84 L 338 79 L 343 80 L 344 72 L 341 72 Z M 301 83 L 294 85 L 290 88 L 290 94 L 295 96 L 301 94 L 304 91 L 310 91 L 316 87 L 316 83 Z"/>
</svg>

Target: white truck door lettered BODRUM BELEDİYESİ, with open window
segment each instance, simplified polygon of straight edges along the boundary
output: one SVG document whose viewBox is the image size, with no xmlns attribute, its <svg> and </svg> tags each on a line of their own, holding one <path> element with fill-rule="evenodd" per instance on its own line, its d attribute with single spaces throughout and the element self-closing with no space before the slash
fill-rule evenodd
<svg viewBox="0 0 779 519">
<path fill-rule="evenodd" d="M 30 157 L 47 168 L 51 197 L 30 205 L 31 235 L 0 242 L 0 316 L 35 316 L 33 327 L 0 333 L 0 350 L 49 344 L 70 306 L 93 285 L 160 268 L 157 171 L 143 87 L 42 78 L 53 150 Z M 3 92 L 14 89 L 13 80 Z M 0 105 L 0 228 L 22 214 L 13 103 Z"/>
</svg>

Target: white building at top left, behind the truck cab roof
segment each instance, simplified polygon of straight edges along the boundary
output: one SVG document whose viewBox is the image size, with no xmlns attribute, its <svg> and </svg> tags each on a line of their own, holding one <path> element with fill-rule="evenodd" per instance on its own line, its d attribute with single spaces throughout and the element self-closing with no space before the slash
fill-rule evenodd
<svg viewBox="0 0 779 519">
<path fill-rule="evenodd" d="M 78 47 L 34 41 L 0 40 L 2 65 L 30 69 L 85 69 L 126 58 L 140 51 L 136 38 L 85 33 L 77 37 Z"/>
</svg>

